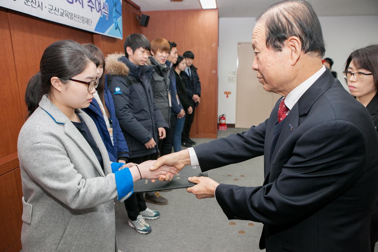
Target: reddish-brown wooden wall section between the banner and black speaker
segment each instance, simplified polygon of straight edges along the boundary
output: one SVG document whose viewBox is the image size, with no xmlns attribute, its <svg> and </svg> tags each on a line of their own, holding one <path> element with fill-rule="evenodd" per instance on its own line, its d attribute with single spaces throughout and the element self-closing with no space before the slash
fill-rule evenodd
<svg viewBox="0 0 378 252">
<path fill-rule="evenodd" d="M 112 37 L 102 36 L 100 34 L 93 34 L 93 43 L 97 45 L 104 54 L 109 53 L 124 53 L 123 44 L 125 38 L 132 33 L 141 33 L 141 27 L 136 16 L 140 14 L 140 8 L 132 2 L 124 0 L 122 2 L 122 36 L 123 39 L 116 39 Z"/>
</svg>

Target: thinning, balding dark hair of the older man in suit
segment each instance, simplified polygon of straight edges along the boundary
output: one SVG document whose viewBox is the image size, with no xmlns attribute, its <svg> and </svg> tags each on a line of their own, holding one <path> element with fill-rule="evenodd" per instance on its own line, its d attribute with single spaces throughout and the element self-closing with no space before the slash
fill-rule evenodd
<svg viewBox="0 0 378 252">
<path fill-rule="evenodd" d="M 282 51 L 291 36 L 299 37 L 304 53 L 324 57 L 325 45 L 322 27 L 310 3 L 305 0 L 285 0 L 274 3 L 260 13 L 256 23 L 265 21 L 266 47 Z"/>
</svg>

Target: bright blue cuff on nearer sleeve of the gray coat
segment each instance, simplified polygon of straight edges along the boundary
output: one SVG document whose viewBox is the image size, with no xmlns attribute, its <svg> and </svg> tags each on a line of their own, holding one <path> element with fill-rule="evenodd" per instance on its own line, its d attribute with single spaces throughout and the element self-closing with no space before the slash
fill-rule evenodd
<svg viewBox="0 0 378 252">
<path fill-rule="evenodd" d="M 119 201 L 124 201 L 129 198 L 134 192 L 133 176 L 130 173 L 129 168 L 116 171 L 116 186 Z"/>
</svg>

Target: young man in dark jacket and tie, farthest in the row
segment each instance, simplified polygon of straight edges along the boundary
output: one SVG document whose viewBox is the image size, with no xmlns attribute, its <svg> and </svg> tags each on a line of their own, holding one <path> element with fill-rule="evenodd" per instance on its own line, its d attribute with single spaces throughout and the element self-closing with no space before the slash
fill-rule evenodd
<svg viewBox="0 0 378 252">
<path fill-rule="evenodd" d="M 196 142 L 189 138 L 189 133 L 194 120 L 195 107 L 197 107 L 200 102 L 201 82 L 200 77 L 197 74 L 197 68 L 193 65 L 194 53 L 192 51 L 185 51 L 183 56 L 186 59 L 186 68 L 185 71 L 181 71 L 180 76 L 185 81 L 187 96 L 192 100 L 193 112 L 192 114 L 186 115 L 184 129 L 181 135 L 181 144 L 185 147 L 192 147 Z"/>
</svg>

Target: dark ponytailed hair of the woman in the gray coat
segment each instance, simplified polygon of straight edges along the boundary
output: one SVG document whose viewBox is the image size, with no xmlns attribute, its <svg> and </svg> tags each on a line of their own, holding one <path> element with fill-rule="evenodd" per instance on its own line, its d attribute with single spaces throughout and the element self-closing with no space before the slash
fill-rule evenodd
<svg viewBox="0 0 378 252">
<path fill-rule="evenodd" d="M 42 96 L 52 93 L 51 78 L 57 77 L 66 84 L 70 78 L 82 73 L 88 64 L 96 67 L 99 61 L 85 47 L 73 40 L 59 40 L 49 45 L 43 52 L 39 69 L 28 82 L 25 103 L 29 117 L 39 107 Z"/>
</svg>

